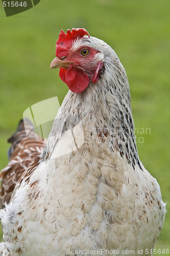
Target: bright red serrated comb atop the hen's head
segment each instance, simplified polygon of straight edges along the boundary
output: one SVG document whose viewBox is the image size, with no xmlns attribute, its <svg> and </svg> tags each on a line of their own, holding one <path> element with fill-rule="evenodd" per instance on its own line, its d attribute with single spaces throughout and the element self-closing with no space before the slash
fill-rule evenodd
<svg viewBox="0 0 170 256">
<path fill-rule="evenodd" d="M 63 45 L 64 43 L 67 44 L 68 41 L 75 40 L 78 37 L 83 37 L 84 35 L 88 35 L 88 37 L 90 37 L 89 33 L 85 29 L 71 29 L 71 31 L 68 29 L 66 34 L 64 33 L 63 30 L 61 30 L 56 44 L 57 45 Z"/>
</svg>

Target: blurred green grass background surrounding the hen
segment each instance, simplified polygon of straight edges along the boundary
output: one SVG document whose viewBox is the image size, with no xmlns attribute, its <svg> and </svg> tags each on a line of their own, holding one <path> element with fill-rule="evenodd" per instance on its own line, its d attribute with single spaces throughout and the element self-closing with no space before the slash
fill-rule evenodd
<svg viewBox="0 0 170 256">
<path fill-rule="evenodd" d="M 161 249 L 170 244 L 169 10 L 169 0 L 50 0 L 6 17 L 0 3 L 0 169 L 23 111 L 54 96 L 61 104 L 68 88 L 49 68 L 56 39 L 61 29 L 83 27 L 115 50 L 129 78 L 135 126 L 151 129 L 136 136 L 144 138 L 137 139 L 140 160 L 167 202 Z"/>
</svg>

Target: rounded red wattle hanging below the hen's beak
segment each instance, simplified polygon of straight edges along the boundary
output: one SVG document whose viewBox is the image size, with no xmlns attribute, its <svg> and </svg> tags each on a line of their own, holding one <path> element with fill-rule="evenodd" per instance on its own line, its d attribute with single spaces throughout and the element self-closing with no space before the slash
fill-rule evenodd
<svg viewBox="0 0 170 256">
<path fill-rule="evenodd" d="M 89 77 L 81 70 L 74 67 L 60 68 L 59 76 L 74 93 L 83 92 L 89 84 Z"/>
</svg>

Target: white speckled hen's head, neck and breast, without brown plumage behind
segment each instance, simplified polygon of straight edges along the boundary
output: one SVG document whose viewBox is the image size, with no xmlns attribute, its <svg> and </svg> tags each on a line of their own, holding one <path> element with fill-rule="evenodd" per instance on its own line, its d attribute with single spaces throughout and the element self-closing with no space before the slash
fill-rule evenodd
<svg viewBox="0 0 170 256">
<path fill-rule="evenodd" d="M 85 29 L 61 31 L 58 67 L 69 91 L 1 210 L 3 255 L 151 255 L 165 204 L 139 160 L 125 69 Z"/>
</svg>

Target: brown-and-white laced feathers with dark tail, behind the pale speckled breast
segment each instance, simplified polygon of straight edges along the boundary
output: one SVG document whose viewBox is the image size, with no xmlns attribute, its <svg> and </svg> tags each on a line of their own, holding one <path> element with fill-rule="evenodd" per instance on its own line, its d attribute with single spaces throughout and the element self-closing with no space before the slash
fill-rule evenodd
<svg viewBox="0 0 170 256">
<path fill-rule="evenodd" d="M 45 140 L 34 132 L 29 119 L 19 121 L 16 132 L 8 142 L 12 145 L 8 151 L 9 163 L 0 173 L 0 208 L 9 203 L 17 181 L 27 167 L 39 157 L 45 146 Z"/>
</svg>

